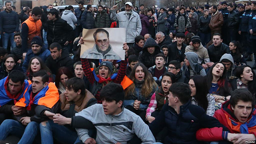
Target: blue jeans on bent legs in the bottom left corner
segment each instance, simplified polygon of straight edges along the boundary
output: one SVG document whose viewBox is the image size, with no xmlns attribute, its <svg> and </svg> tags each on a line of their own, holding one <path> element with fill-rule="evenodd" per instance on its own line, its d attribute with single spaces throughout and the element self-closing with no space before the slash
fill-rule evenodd
<svg viewBox="0 0 256 144">
<path fill-rule="evenodd" d="M 21 138 L 18 144 L 32 144 L 37 133 L 39 133 L 39 124 L 34 121 L 25 126 L 16 120 L 4 120 L 0 125 L 0 140 L 14 135 Z"/>
</svg>

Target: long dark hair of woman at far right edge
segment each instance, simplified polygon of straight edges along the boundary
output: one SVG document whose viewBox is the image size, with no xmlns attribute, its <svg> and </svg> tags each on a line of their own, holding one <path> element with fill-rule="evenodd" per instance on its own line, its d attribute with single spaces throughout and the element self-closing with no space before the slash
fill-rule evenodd
<svg viewBox="0 0 256 144">
<path fill-rule="evenodd" d="M 236 68 L 236 73 L 235 73 L 235 76 L 239 79 L 241 79 L 241 75 L 243 74 L 244 72 L 244 68 L 246 67 L 249 67 L 252 69 L 251 66 L 249 65 L 241 65 L 239 67 Z M 252 70 L 252 74 L 253 74 L 253 79 L 252 81 L 249 81 L 248 82 L 248 90 L 252 93 L 252 95 L 255 96 L 255 93 L 256 93 L 256 75 L 255 75 L 255 72 Z"/>
</svg>

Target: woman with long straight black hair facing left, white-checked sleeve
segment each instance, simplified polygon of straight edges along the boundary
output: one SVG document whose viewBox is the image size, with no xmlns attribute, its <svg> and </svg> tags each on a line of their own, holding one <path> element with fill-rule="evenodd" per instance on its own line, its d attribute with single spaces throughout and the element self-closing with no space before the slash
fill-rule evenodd
<svg viewBox="0 0 256 144">
<path fill-rule="evenodd" d="M 208 116 L 213 116 L 215 112 L 215 99 L 208 93 L 205 78 L 203 76 L 194 76 L 189 80 L 188 85 L 191 89 L 192 104 L 204 108 Z"/>
</svg>

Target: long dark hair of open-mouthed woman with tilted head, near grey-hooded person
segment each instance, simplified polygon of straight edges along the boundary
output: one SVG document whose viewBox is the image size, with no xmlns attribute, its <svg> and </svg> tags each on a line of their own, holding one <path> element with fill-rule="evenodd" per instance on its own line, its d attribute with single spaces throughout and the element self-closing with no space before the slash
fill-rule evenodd
<svg viewBox="0 0 256 144">
<path fill-rule="evenodd" d="M 210 90 L 212 87 L 212 79 L 213 79 L 212 69 L 216 66 L 216 64 L 219 64 L 219 63 L 222 64 L 221 62 L 216 62 L 215 64 L 213 64 L 206 75 L 206 83 L 207 83 L 208 90 Z M 226 80 L 227 70 L 226 70 L 225 65 L 224 64 L 222 64 L 222 65 L 224 66 L 224 70 L 223 70 L 222 76 L 220 76 L 220 78 L 218 80 L 219 94 L 221 96 L 229 96 L 230 92 L 228 90 L 228 86 L 230 84 L 228 84 L 228 80 Z"/>
</svg>

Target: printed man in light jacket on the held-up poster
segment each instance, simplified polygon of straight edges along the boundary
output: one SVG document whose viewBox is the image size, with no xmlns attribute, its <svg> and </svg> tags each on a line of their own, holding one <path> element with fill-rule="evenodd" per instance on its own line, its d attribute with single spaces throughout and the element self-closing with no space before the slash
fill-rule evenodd
<svg viewBox="0 0 256 144">
<path fill-rule="evenodd" d="M 121 57 L 114 52 L 109 44 L 109 33 L 103 28 L 98 28 L 93 33 L 95 44 L 92 48 L 84 51 L 80 58 L 121 60 Z"/>
</svg>

